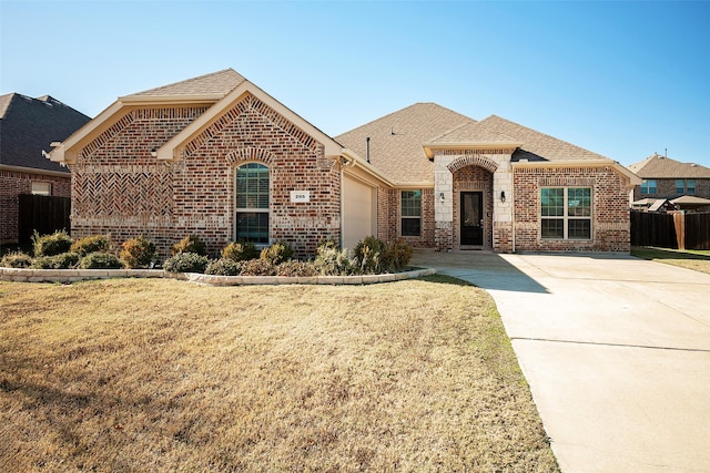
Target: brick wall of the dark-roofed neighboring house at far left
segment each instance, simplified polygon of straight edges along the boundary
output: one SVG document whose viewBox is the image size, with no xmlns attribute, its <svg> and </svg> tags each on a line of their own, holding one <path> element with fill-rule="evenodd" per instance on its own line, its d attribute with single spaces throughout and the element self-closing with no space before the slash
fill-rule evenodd
<svg viewBox="0 0 710 473">
<path fill-rule="evenodd" d="M 18 196 L 31 194 L 33 182 L 50 183 L 54 196 L 71 196 L 71 176 L 69 174 L 63 177 L 0 169 L 0 243 L 18 243 Z"/>
</svg>

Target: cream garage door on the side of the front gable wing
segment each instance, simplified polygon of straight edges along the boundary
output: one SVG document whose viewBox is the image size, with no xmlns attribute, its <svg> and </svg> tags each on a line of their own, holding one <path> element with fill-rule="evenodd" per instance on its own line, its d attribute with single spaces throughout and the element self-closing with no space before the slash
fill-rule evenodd
<svg viewBox="0 0 710 473">
<path fill-rule="evenodd" d="M 355 248 L 366 236 L 377 236 L 375 189 L 343 176 L 343 247 Z"/>
</svg>

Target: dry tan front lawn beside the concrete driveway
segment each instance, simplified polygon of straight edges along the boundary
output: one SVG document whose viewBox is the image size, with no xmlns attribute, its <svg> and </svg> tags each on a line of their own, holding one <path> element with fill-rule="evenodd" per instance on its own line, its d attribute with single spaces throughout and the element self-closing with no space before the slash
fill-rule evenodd
<svg viewBox="0 0 710 473">
<path fill-rule="evenodd" d="M 453 282 L 0 282 L 0 470 L 557 471 Z"/>
</svg>

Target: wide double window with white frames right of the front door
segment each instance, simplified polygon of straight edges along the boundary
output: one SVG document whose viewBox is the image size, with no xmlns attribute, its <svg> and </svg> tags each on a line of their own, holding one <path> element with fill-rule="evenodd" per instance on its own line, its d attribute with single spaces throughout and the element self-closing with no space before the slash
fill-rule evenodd
<svg viewBox="0 0 710 473">
<path fill-rule="evenodd" d="M 542 187 L 544 239 L 591 239 L 591 187 Z"/>
</svg>

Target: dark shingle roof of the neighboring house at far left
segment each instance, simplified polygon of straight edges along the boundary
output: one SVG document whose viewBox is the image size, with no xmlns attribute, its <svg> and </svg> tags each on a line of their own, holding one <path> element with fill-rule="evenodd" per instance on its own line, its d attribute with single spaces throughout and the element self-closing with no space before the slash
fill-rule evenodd
<svg viewBox="0 0 710 473">
<path fill-rule="evenodd" d="M 0 96 L 0 165 L 69 174 L 42 155 L 89 122 L 89 116 L 49 95 Z"/>
</svg>

